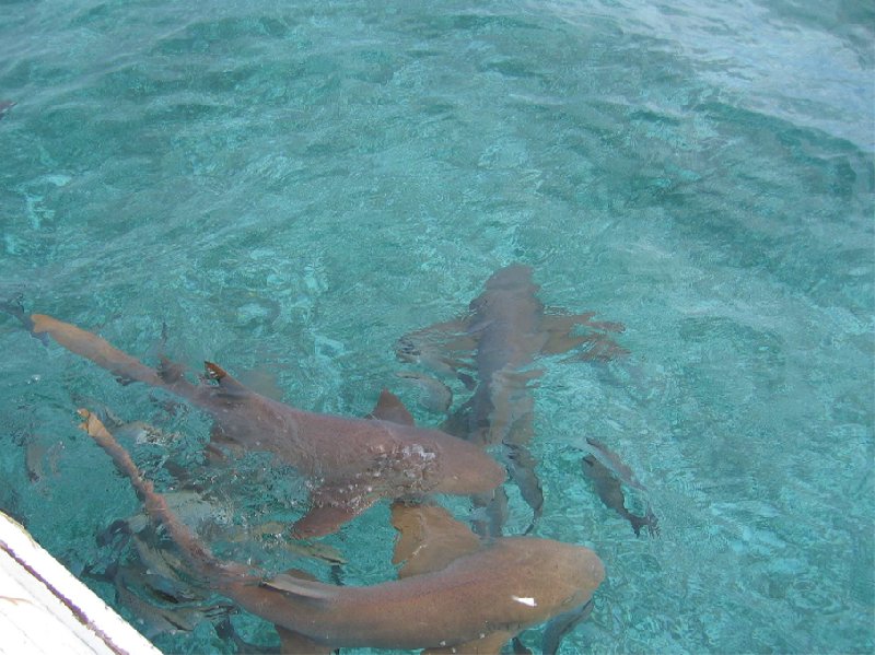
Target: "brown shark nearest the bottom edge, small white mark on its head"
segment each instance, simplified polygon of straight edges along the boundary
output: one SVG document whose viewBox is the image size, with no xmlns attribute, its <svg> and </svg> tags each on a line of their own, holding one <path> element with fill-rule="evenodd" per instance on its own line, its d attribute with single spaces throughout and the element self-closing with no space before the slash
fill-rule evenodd
<svg viewBox="0 0 875 655">
<path fill-rule="evenodd" d="M 400 531 L 396 561 L 404 561 L 399 580 L 336 586 L 220 561 L 178 521 L 100 420 L 88 410 L 80 414 L 83 429 L 130 479 L 147 513 L 164 526 L 194 573 L 275 623 L 289 652 L 346 646 L 499 653 L 520 631 L 584 606 L 605 576 L 587 548 L 535 537 L 485 543 L 445 510 L 404 503 L 393 506 Z"/>
</svg>

